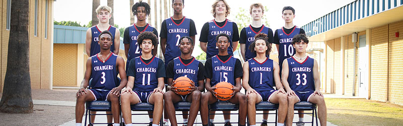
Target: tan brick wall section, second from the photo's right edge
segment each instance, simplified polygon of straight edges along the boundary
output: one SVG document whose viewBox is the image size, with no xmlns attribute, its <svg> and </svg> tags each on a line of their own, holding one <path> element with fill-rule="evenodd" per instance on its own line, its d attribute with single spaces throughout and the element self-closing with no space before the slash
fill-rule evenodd
<svg viewBox="0 0 403 126">
<path fill-rule="evenodd" d="M 371 99 L 387 100 L 388 25 L 372 29 Z"/>
</svg>

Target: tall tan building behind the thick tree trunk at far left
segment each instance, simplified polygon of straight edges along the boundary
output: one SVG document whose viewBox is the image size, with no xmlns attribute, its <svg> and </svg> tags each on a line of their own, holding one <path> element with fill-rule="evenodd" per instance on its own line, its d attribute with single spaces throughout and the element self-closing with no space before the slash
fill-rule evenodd
<svg viewBox="0 0 403 126">
<path fill-rule="evenodd" d="M 29 71 L 32 89 L 51 86 L 53 0 L 30 0 L 29 3 Z M 0 1 L 0 92 L 7 70 L 12 0 Z"/>
</svg>

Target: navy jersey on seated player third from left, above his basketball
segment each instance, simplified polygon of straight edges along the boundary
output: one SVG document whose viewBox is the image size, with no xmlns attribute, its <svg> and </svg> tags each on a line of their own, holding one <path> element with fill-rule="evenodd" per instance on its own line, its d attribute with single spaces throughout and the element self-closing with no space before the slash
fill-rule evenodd
<svg viewBox="0 0 403 126">
<path fill-rule="evenodd" d="M 185 65 L 180 57 L 176 57 L 173 59 L 173 80 L 176 80 L 179 77 L 187 77 L 194 82 L 194 85 L 198 87 L 198 64 L 199 61 L 193 57 L 193 60 L 189 62 L 189 64 Z"/>
</svg>

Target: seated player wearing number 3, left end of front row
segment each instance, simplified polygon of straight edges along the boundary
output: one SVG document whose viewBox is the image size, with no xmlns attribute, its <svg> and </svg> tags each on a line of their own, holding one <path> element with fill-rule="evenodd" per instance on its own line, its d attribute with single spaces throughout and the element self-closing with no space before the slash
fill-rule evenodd
<svg viewBox="0 0 403 126">
<path fill-rule="evenodd" d="M 84 103 L 86 101 L 107 100 L 112 103 L 113 125 L 119 125 L 119 95 L 120 90 L 126 85 L 126 72 L 124 72 L 124 60 L 122 57 L 110 51 L 112 45 L 112 34 L 109 31 L 103 31 L 99 35 L 99 46 L 101 51 L 87 59 L 84 79 L 81 82 L 77 92 L 76 102 L 76 125 L 81 126 L 84 114 Z M 117 72 L 120 74 L 120 84 L 116 87 Z M 88 86 L 90 77 L 92 82 L 91 89 L 85 89 Z"/>
</svg>

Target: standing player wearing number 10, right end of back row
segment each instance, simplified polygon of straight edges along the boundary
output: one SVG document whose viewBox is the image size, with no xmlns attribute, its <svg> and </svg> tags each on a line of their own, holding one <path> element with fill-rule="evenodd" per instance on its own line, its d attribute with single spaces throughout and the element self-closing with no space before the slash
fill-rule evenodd
<svg viewBox="0 0 403 126">
<path fill-rule="evenodd" d="M 279 65 L 280 65 L 280 77 L 282 76 L 283 61 L 284 59 L 291 57 L 295 54 L 295 48 L 292 46 L 291 42 L 293 37 L 297 34 L 305 34 L 304 29 L 298 28 L 294 25 L 293 20 L 295 18 L 294 8 L 287 6 L 283 8 L 282 11 L 283 19 L 285 25 L 281 29 L 277 29 L 274 33 L 274 42 L 279 52 Z M 304 113 L 303 110 L 298 111 L 299 113 Z M 304 125 L 304 114 L 299 115 L 299 122 L 297 126 Z"/>
</svg>

